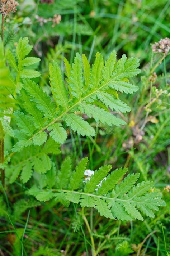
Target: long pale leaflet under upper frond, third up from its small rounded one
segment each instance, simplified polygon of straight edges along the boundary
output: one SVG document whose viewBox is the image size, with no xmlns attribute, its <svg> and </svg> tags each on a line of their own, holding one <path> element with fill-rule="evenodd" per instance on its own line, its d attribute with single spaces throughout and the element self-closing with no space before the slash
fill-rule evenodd
<svg viewBox="0 0 170 256">
<path fill-rule="evenodd" d="M 78 107 L 82 113 L 87 114 L 90 118 L 94 117 L 96 122 L 101 121 L 102 123 L 106 123 L 110 126 L 119 126 L 125 124 L 123 120 L 113 116 L 111 113 L 105 111 L 102 108 L 95 107 L 94 105 L 81 103 Z"/>
</svg>

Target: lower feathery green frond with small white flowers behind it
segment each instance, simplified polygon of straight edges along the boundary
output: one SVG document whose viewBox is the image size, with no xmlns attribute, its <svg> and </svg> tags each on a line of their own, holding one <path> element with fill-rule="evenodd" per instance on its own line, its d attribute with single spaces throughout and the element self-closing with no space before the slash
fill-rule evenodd
<svg viewBox="0 0 170 256">
<path fill-rule="evenodd" d="M 161 206 L 163 201 L 160 192 L 151 190 L 152 182 L 142 181 L 142 183 L 135 185 L 139 174 L 128 174 L 122 180 L 128 171 L 127 168 L 116 169 L 108 174 L 112 166 L 106 165 L 96 170 L 90 180 L 85 183 L 83 178 L 87 161 L 88 158 L 83 158 L 76 166 L 75 171 L 72 172 L 71 177 L 66 175 L 64 185 L 61 185 L 63 184 L 61 173 L 63 167 L 67 167 L 66 162 L 61 166 L 61 171 L 57 176 L 57 184 L 53 188 L 40 189 L 34 186 L 28 193 L 39 201 L 48 201 L 56 197 L 56 200 L 64 205 L 69 201 L 80 203 L 81 207 L 94 207 L 101 216 L 110 219 L 143 220 L 141 213 L 154 217 L 154 211 L 159 210 L 158 206 Z M 70 163 L 68 168 L 67 171 L 70 174 Z M 69 205 L 69 203 L 67 204 Z"/>
</svg>

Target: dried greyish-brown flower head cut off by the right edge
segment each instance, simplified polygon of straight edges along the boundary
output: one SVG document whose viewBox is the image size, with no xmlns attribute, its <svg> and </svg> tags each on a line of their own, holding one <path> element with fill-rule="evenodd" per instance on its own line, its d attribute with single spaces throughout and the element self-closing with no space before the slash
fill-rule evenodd
<svg viewBox="0 0 170 256">
<path fill-rule="evenodd" d="M 165 53 L 168 54 L 170 50 L 170 39 L 168 37 L 165 37 L 164 39 L 161 39 L 159 42 L 155 42 L 154 45 L 152 45 L 152 51 L 154 53 Z"/>
</svg>

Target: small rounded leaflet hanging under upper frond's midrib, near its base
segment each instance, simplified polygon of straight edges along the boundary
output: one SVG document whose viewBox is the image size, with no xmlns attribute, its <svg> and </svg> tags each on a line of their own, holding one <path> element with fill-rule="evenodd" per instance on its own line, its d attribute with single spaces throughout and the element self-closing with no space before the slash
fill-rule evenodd
<svg viewBox="0 0 170 256">
<path fill-rule="evenodd" d="M 52 137 L 55 142 L 63 144 L 67 139 L 66 130 L 62 127 L 61 123 L 53 123 L 48 127 L 48 131 L 50 131 L 50 136 Z"/>
</svg>

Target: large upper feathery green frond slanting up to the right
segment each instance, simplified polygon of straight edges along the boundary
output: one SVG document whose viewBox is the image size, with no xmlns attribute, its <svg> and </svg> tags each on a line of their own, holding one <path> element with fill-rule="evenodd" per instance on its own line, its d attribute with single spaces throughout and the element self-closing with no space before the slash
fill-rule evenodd
<svg viewBox="0 0 170 256">
<path fill-rule="evenodd" d="M 21 45 L 21 46 L 20 46 Z M 24 51 L 19 53 L 20 48 Z M 18 58 L 22 59 L 30 51 L 27 39 L 21 39 L 17 48 Z M 20 54 L 20 55 L 19 55 Z M 82 64 L 83 63 L 83 64 Z M 109 126 L 124 125 L 125 122 L 109 112 L 130 111 L 130 108 L 118 99 L 117 91 L 133 93 L 137 86 L 130 84 L 128 78 L 137 75 L 138 58 L 126 59 L 126 55 L 116 63 L 116 53 L 110 54 L 108 60 L 103 62 L 101 54 L 96 54 L 95 62 L 90 68 L 85 55 L 76 54 L 72 66 L 65 60 L 67 72 L 67 87 L 63 81 L 62 72 L 57 63 L 49 64 L 50 84 L 53 98 L 47 95 L 41 87 L 31 80 L 25 80 L 21 91 L 21 104 L 28 114 L 15 112 L 15 121 L 22 132 L 20 141 L 15 145 L 14 151 L 20 151 L 25 145 L 41 145 L 45 142 L 46 131 L 57 143 L 63 144 L 67 133 L 61 121 L 65 121 L 73 131 L 82 136 L 95 136 L 95 130 L 75 111 L 80 110 L 90 118 L 94 117 L 96 122 Z M 82 68 L 83 66 L 83 68 Z M 115 96 L 116 95 L 116 96 Z M 101 100 L 103 109 L 95 106 L 95 100 Z M 23 140 L 23 134 L 25 139 Z M 28 144 L 29 141 L 29 144 Z"/>
</svg>

